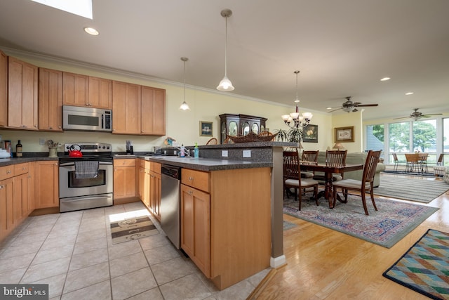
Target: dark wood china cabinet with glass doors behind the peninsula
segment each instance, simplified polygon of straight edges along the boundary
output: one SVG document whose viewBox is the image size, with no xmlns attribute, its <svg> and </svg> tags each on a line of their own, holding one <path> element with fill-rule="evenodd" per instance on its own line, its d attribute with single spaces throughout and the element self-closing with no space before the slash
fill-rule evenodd
<svg viewBox="0 0 449 300">
<path fill-rule="evenodd" d="M 264 117 L 222 114 L 220 115 L 220 143 L 225 141 L 227 135 L 246 136 L 250 131 L 259 134 L 265 130 L 265 122 L 267 118 Z"/>
</svg>

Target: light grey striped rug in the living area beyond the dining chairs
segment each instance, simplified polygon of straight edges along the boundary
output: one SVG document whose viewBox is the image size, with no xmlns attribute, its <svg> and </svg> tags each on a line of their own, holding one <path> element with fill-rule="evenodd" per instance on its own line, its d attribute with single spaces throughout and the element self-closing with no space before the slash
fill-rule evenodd
<svg viewBox="0 0 449 300">
<path fill-rule="evenodd" d="M 374 194 L 429 203 L 447 190 L 449 190 L 449 185 L 440 180 L 413 179 L 381 174 L 380 185 L 378 188 L 374 188 Z"/>
</svg>

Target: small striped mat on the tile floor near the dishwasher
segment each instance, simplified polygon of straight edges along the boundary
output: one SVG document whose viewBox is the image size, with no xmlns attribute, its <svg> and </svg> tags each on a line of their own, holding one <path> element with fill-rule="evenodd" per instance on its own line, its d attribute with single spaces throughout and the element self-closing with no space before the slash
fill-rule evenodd
<svg viewBox="0 0 449 300">
<path fill-rule="evenodd" d="M 159 233 L 148 216 L 130 216 L 111 222 L 112 244 L 138 240 Z"/>
</svg>

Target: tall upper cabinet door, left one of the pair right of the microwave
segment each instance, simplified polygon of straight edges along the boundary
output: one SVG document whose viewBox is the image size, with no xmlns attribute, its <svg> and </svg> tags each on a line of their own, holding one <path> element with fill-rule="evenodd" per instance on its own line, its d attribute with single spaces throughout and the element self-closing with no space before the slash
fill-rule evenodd
<svg viewBox="0 0 449 300">
<path fill-rule="evenodd" d="M 140 86 L 112 82 L 112 133 L 140 134 Z"/>
</svg>

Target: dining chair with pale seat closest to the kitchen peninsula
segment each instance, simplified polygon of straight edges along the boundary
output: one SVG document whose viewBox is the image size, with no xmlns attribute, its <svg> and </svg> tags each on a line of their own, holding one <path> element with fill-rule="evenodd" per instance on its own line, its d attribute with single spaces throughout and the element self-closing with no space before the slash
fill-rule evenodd
<svg viewBox="0 0 449 300">
<path fill-rule="evenodd" d="M 295 190 L 295 200 L 299 200 L 299 210 L 301 210 L 302 194 L 306 188 L 314 189 L 315 203 L 318 206 L 318 185 L 319 182 L 311 178 L 301 178 L 300 155 L 297 151 L 283 151 L 283 187 L 284 190 L 293 188 Z M 298 193 L 299 190 L 299 193 Z"/>
</svg>

